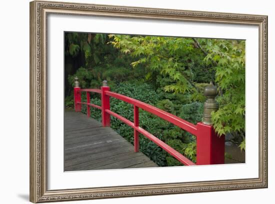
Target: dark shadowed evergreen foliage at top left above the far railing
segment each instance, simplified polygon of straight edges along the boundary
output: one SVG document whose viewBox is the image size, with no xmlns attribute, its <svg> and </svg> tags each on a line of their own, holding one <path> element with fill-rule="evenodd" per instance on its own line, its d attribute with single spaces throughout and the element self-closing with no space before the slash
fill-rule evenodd
<svg viewBox="0 0 275 204">
<path fill-rule="evenodd" d="M 108 85 L 113 87 L 121 81 L 136 80 L 144 73 L 133 71 L 130 66 L 133 58 L 121 55 L 107 41 L 106 34 L 65 33 L 66 96 L 71 92 L 75 75 L 80 79 L 81 87 L 99 87 L 103 80 L 108 80 Z M 75 63 L 77 60 L 84 63 Z M 75 69 L 77 64 L 81 66 Z"/>
</svg>

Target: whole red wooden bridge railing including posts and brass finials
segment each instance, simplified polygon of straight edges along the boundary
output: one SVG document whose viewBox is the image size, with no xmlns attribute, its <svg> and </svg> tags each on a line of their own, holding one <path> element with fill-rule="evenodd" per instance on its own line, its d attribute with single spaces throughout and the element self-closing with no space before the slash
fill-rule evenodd
<svg viewBox="0 0 275 204">
<path fill-rule="evenodd" d="M 180 117 L 177 117 L 171 113 L 161 110 L 157 107 L 144 103 L 140 100 L 115 93 L 110 91 L 106 81 L 103 81 L 101 89 L 85 88 L 81 89 L 77 78 L 75 78 L 74 87 L 74 109 L 76 112 L 81 111 L 81 104 L 87 107 L 87 116 L 90 116 L 90 107 L 101 109 L 102 126 L 110 126 L 110 115 L 118 118 L 125 124 L 133 128 L 134 131 L 134 151 L 137 152 L 139 149 L 139 133 L 153 141 L 155 144 L 160 146 L 162 149 L 167 151 L 170 155 L 176 158 L 184 165 L 202 165 L 202 164 L 221 164 L 224 163 L 224 135 L 217 136 L 213 126 L 211 125 L 211 111 L 218 108 L 217 103 L 214 100 L 216 96 L 216 89 L 212 84 L 207 86 L 204 90 L 204 94 L 207 96 L 207 100 L 204 103 L 204 112 L 202 122 L 197 124 L 190 123 Z M 81 102 L 81 92 L 86 92 L 87 102 Z M 101 106 L 90 103 L 90 92 L 96 92 L 101 94 Z M 124 102 L 133 105 L 133 121 L 113 112 L 110 110 L 110 97 L 122 100 Z M 139 126 L 138 112 L 139 108 L 150 112 L 172 124 L 190 132 L 196 136 L 196 163 L 186 158 L 184 155 L 167 145 L 156 136 L 152 135 L 145 129 Z"/>
</svg>

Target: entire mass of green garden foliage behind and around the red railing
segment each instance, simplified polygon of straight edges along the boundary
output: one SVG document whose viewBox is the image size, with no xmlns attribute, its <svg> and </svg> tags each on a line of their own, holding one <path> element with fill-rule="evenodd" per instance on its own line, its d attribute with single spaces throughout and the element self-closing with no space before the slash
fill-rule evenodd
<svg viewBox="0 0 275 204">
<path fill-rule="evenodd" d="M 245 49 L 244 40 L 196 39 L 183 37 L 68 33 L 65 55 L 73 60 L 83 55 L 84 63 L 70 72 L 67 81 L 74 86 L 78 76 L 82 88 L 99 88 L 106 79 L 111 90 L 152 104 L 189 122 L 201 121 L 209 81 L 218 86 L 220 108 L 212 113 L 219 134 L 241 137 L 245 149 Z M 201 48 L 197 46 L 200 44 Z M 204 53 L 207 52 L 207 55 Z M 72 61 L 73 61 L 72 60 Z M 71 65 L 71 64 L 69 64 Z M 65 107 L 73 107 L 72 91 Z M 85 95 L 82 95 L 85 101 Z M 91 94 L 100 105 L 100 95 Z M 111 110 L 133 120 L 133 107 L 111 98 Z M 86 112 L 82 106 L 82 112 Z M 101 112 L 91 108 L 91 116 Z M 190 133 L 139 109 L 140 126 L 195 162 L 195 137 Z M 111 117 L 111 127 L 133 143 L 133 130 Z M 140 135 L 140 150 L 159 166 L 181 165 L 152 141 Z"/>
</svg>

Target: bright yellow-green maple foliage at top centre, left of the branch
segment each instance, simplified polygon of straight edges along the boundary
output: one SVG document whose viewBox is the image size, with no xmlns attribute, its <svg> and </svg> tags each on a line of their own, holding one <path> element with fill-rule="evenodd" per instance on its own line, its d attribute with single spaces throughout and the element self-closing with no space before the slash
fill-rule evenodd
<svg viewBox="0 0 275 204">
<path fill-rule="evenodd" d="M 164 86 L 165 91 L 193 90 L 193 69 L 200 64 L 201 52 L 194 47 L 191 38 L 113 34 L 109 37 L 115 48 L 137 57 L 131 62 L 134 68 L 142 65 L 151 72 L 169 77 L 172 83 Z"/>
</svg>

